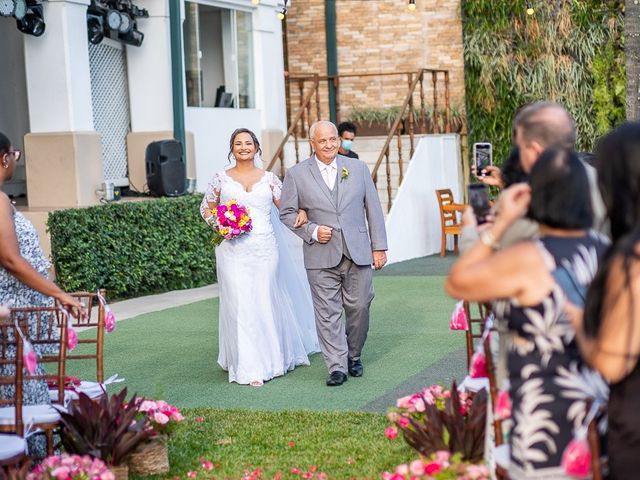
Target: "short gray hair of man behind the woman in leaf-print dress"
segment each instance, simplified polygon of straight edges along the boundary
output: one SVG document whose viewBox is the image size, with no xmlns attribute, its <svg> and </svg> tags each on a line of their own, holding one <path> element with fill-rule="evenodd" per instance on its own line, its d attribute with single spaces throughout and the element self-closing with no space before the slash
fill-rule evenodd
<svg viewBox="0 0 640 480">
<path fill-rule="evenodd" d="M 562 105 L 556 102 L 534 102 L 518 112 L 513 131 L 520 130 L 525 140 L 541 147 L 575 149 L 576 122 Z"/>
</svg>

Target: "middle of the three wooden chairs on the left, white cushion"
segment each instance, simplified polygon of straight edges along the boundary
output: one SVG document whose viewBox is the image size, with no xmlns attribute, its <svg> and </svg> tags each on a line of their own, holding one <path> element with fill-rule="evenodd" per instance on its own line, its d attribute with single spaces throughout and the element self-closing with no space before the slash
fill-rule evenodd
<svg viewBox="0 0 640 480">
<path fill-rule="evenodd" d="M 59 397 L 63 398 L 65 354 L 67 349 L 67 323 L 66 315 L 55 307 L 25 307 L 11 309 L 11 322 L 19 327 L 26 340 L 33 346 L 38 354 L 38 365 L 53 364 L 52 373 L 46 369 L 39 369 L 39 373 L 28 374 L 23 372 L 22 385 L 25 382 L 41 381 L 56 383 Z M 8 341 L 14 341 L 15 337 L 6 337 Z M 20 343 L 20 342 L 17 342 Z M 16 408 L 0 408 L 0 432 L 16 432 L 17 418 Z M 47 452 L 53 454 L 53 432 L 59 426 L 60 414 L 50 403 L 38 405 L 23 405 L 23 423 L 31 424 L 34 428 L 44 431 L 47 438 Z"/>
</svg>

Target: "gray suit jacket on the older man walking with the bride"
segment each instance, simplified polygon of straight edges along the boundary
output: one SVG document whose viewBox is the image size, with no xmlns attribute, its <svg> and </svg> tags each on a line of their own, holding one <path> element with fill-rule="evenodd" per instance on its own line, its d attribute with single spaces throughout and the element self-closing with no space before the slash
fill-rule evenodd
<svg viewBox="0 0 640 480">
<path fill-rule="evenodd" d="M 304 240 L 307 269 L 333 268 L 342 260 L 342 240 L 356 265 L 371 265 L 373 250 L 387 249 L 384 215 L 366 164 L 337 156 L 338 202 L 324 183 L 315 156 L 287 170 L 280 199 L 280 219 Z M 349 172 L 342 178 L 343 168 Z M 309 222 L 293 228 L 298 209 L 307 211 Z M 331 240 L 321 244 L 312 235 L 319 225 L 333 228 Z"/>
</svg>

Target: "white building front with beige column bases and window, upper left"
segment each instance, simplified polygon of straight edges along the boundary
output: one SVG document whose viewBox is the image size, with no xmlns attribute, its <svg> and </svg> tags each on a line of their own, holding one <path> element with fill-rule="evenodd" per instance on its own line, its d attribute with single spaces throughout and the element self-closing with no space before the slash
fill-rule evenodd
<svg viewBox="0 0 640 480">
<path fill-rule="evenodd" d="M 148 13 L 130 17 L 139 45 L 118 35 L 89 41 L 88 13 L 109 0 L 37 4 L 41 36 L 0 17 L 0 131 L 24 151 L 6 190 L 30 210 L 97 204 L 105 182 L 144 191 L 146 146 L 174 138 L 177 117 L 198 190 L 227 163 L 235 128 L 254 130 L 265 155 L 284 135 L 281 0 L 134 0 Z"/>
</svg>

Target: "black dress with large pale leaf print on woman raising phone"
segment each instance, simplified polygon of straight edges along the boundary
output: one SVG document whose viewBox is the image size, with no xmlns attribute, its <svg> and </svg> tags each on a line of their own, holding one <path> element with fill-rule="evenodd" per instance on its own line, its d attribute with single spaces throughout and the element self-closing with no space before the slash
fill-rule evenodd
<svg viewBox="0 0 640 480">
<path fill-rule="evenodd" d="M 549 270 L 570 270 L 588 285 L 604 253 L 606 240 L 595 233 L 584 237 L 544 237 L 539 245 Z M 586 415 L 589 398 L 606 403 L 608 387 L 580 358 L 575 332 L 563 312 L 565 296 L 557 284 L 533 306 L 504 302 L 512 334 L 508 368 L 513 402 L 510 478 L 565 479 L 562 454 Z"/>
</svg>

